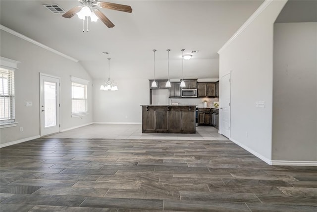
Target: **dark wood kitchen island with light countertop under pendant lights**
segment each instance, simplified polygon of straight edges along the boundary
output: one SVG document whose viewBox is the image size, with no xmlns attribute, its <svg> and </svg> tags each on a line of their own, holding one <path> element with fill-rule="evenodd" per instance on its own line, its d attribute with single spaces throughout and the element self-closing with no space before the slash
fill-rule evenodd
<svg viewBox="0 0 317 212">
<path fill-rule="evenodd" d="M 141 105 L 142 133 L 196 133 L 196 105 Z"/>
</svg>

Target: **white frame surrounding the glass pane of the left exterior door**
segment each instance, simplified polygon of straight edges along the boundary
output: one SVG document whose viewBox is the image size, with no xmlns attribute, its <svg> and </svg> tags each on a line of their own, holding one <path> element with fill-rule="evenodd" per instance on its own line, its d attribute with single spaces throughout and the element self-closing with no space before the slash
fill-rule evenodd
<svg viewBox="0 0 317 212">
<path fill-rule="evenodd" d="M 56 127 L 44 127 L 44 78 L 50 77 L 56 81 Z M 57 84 L 58 83 L 58 84 Z M 47 136 L 60 132 L 60 77 L 40 72 L 40 136 Z"/>
</svg>

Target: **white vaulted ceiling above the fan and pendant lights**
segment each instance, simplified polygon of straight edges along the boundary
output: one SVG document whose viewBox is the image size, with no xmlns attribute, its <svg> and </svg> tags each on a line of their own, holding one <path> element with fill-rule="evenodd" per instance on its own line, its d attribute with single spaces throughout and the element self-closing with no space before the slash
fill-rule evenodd
<svg viewBox="0 0 317 212">
<path fill-rule="evenodd" d="M 83 22 L 76 15 L 64 18 L 43 6 L 56 3 L 67 11 L 80 4 L 77 0 L 0 0 L 0 23 L 79 60 L 93 78 L 103 78 L 106 58 L 150 61 L 153 49 L 158 50 L 157 60 L 166 60 L 166 49 L 171 49 L 171 60 L 178 60 L 183 48 L 184 54 L 199 50 L 192 60 L 218 60 L 217 51 L 263 0 L 108 2 L 130 5 L 133 11 L 101 9 L 115 26 L 89 21 L 89 32 L 82 32 Z"/>
</svg>

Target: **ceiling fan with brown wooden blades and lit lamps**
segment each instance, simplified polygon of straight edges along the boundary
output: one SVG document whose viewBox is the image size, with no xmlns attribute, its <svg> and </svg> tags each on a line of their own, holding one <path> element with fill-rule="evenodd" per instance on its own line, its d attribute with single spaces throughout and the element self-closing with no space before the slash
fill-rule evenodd
<svg viewBox="0 0 317 212">
<path fill-rule="evenodd" d="M 112 28 L 114 27 L 114 24 L 106 17 L 106 15 L 102 11 L 100 11 L 98 8 L 94 8 L 95 6 L 98 6 L 100 8 L 114 9 L 122 12 L 132 12 L 131 6 L 123 4 L 104 2 L 100 0 L 79 0 L 79 2 L 83 5 L 78 5 L 71 8 L 62 16 L 65 18 L 71 18 L 75 14 L 78 14 L 78 17 L 83 20 L 85 20 L 86 16 L 90 16 L 91 21 L 97 21 L 97 19 L 100 18 L 107 27 Z"/>
</svg>

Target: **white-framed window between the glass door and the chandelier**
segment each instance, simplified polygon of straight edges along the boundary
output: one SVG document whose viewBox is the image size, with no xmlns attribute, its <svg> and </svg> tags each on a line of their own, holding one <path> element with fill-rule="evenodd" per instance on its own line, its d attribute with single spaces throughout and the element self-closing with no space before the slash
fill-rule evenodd
<svg viewBox="0 0 317 212">
<path fill-rule="evenodd" d="M 72 117 L 85 115 L 88 112 L 87 84 L 88 81 L 71 76 Z"/>
</svg>

